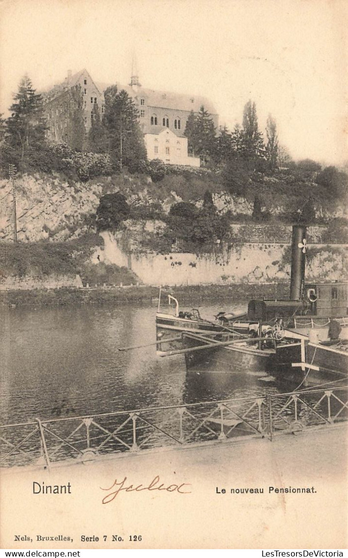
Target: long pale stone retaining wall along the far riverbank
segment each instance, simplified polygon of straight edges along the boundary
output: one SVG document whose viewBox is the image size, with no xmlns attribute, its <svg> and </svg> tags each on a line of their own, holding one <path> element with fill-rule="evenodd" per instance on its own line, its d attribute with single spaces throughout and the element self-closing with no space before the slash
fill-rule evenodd
<svg viewBox="0 0 348 558">
<path fill-rule="evenodd" d="M 244 243 L 228 250 L 197 256 L 190 253 L 136 254 L 122 248 L 121 233 L 102 233 L 106 263 L 128 266 L 147 285 L 282 282 L 290 280 L 290 262 L 284 259 L 289 243 Z M 291 240 L 291 238 L 290 238 Z M 308 245 L 315 255 L 307 266 L 307 281 L 345 280 L 347 246 Z"/>
</svg>

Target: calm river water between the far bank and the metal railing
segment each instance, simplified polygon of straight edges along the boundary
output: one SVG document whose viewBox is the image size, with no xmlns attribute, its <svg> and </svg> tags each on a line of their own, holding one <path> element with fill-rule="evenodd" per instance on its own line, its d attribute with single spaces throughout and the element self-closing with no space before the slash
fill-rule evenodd
<svg viewBox="0 0 348 558">
<path fill-rule="evenodd" d="M 213 319 L 219 306 L 200 306 L 200 314 Z M 155 312 L 132 305 L 1 309 L 1 423 L 278 392 L 272 378 L 248 371 L 187 373 L 182 355 L 160 358 L 154 346 L 119 352 L 155 340 Z"/>
</svg>

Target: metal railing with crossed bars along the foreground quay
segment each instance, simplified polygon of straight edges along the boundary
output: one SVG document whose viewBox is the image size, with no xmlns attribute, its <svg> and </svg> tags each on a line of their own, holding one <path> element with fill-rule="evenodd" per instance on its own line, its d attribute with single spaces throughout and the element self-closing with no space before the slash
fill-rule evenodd
<svg viewBox="0 0 348 558">
<path fill-rule="evenodd" d="M 348 419 L 347 388 L 303 391 L 190 405 L 143 408 L 0 426 L 0 466 L 82 462 L 164 446 L 272 440 L 283 432 Z"/>
</svg>

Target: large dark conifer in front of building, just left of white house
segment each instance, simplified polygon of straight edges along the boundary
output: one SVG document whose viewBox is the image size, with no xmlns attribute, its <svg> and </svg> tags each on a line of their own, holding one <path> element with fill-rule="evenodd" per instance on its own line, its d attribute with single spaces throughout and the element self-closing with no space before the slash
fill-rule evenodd
<svg viewBox="0 0 348 558">
<path fill-rule="evenodd" d="M 107 88 L 103 124 L 106 129 L 107 152 L 115 170 L 127 166 L 136 171 L 146 161 L 143 133 L 138 122 L 138 110 L 133 99 L 116 85 Z"/>
</svg>

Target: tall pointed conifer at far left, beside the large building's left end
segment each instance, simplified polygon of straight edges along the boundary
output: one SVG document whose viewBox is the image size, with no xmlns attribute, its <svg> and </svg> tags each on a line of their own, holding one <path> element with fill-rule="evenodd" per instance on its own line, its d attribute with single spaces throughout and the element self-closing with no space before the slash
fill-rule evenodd
<svg viewBox="0 0 348 558">
<path fill-rule="evenodd" d="M 24 155 L 40 151 L 45 143 L 46 122 L 41 95 L 35 93 L 27 75 L 21 79 L 13 100 L 7 119 L 7 141 L 22 162 Z"/>
</svg>

